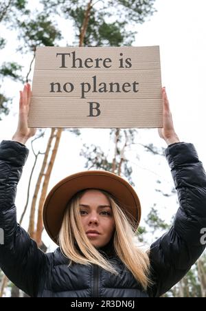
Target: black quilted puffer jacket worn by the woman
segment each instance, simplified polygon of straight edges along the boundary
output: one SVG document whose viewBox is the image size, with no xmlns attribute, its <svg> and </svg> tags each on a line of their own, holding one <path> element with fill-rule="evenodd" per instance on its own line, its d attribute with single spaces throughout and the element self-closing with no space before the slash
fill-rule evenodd
<svg viewBox="0 0 206 311">
<path fill-rule="evenodd" d="M 73 264 L 60 253 L 44 254 L 16 223 L 16 185 L 29 150 L 10 140 L 0 144 L 0 266 L 5 275 L 32 297 L 159 297 L 178 282 L 203 253 L 201 228 L 206 228 L 206 175 L 194 145 L 179 142 L 165 157 L 179 197 L 174 225 L 151 246 L 154 286 L 147 292 L 117 257 L 110 257 L 119 276 L 98 266 Z M 1 230 L 2 232 L 2 230 Z M 103 248 L 103 253 L 106 250 Z"/>
</svg>

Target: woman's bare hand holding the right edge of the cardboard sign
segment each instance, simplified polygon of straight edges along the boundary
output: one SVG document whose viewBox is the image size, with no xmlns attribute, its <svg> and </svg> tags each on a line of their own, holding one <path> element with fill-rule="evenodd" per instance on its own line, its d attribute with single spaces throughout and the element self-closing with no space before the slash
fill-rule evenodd
<svg viewBox="0 0 206 311">
<path fill-rule="evenodd" d="M 163 96 L 163 127 L 158 129 L 159 137 L 165 140 L 167 144 L 180 142 L 179 137 L 176 135 L 176 132 L 174 131 L 172 114 L 170 111 L 170 104 L 168 96 L 166 94 L 165 87 L 162 88 L 162 96 Z"/>
</svg>

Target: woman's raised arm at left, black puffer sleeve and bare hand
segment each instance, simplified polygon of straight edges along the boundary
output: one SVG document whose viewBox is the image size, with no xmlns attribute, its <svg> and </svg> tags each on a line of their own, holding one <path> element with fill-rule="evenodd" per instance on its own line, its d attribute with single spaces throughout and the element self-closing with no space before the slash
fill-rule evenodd
<svg viewBox="0 0 206 311">
<path fill-rule="evenodd" d="M 27 88 L 23 94 L 27 93 Z M 22 98 L 22 96 L 21 96 Z M 0 245 L 0 267 L 5 275 L 32 297 L 38 295 L 45 273 L 47 257 L 36 242 L 16 222 L 16 186 L 21 178 L 29 150 L 24 143 L 35 133 L 27 129 L 27 98 L 20 100 L 18 131 L 12 140 L 0 144 L 0 228 L 3 233 Z"/>
</svg>

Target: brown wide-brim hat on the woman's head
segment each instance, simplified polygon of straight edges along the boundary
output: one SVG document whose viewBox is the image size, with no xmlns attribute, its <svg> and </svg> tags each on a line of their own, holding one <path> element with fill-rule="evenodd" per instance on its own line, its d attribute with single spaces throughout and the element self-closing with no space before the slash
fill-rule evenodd
<svg viewBox="0 0 206 311">
<path fill-rule="evenodd" d="M 108 171 L 81 171 L 60 180 L 49 192 L 43 204 L 45 230 L 56 244 L 69 201 L 73 195 L 84 189 L 102 189 L 111 193 L 121 204 L 120 207 L 124 208 L 135 221 L 135 228 L 138 228 L 141 205 L 133 186 L 124 178 Z"/>
</svg>

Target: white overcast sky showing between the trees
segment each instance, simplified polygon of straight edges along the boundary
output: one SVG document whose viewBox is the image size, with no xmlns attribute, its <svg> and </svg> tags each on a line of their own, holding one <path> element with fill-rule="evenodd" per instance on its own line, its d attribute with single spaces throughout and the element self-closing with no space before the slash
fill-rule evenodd
<svg viewBox="0 0 206 311">
<path fill-rule="evenodd" d="M 32 1 L 34 3 L 34 1 Z M 134 46 L 159 45 L 161 52 L 161 76 L 162 85 L 166 87 L 170 100 L 170 109 L 174 128 L 181 141 L 192 142 L 198 151 L 198 156 L 206 167 L 205 149 L 205 55 L 206 55 L 206 1 L 205 0 L 157 0 L 155 3 L 157 11 L 149 21 L 143 25 L 137 25 L 138 34 L 135 37 Z M 62 28 L 65 24 L 62 24 Z M 25 65 L 25 72 L 30 63 L 31 55 L 21 56 L 15 52 L 15 34 L 6 32 L 3 26 L 0 27 L 1 36 L 7 35 L 8 46 L 0 51 L 0 62 L 19 61 Z M 67 39 L 69 42 L 69 39 Z M 62 43 L 63 46 L 63 43 Z M 24 57 L 24 58 L 23 58 Z M 22 85 L 6 81 L 2 89 L 8 96 L 14 97 L 10 116 L 0 122 L 0 141 L 11 139 L 18 122 L 17 111 L 19 107 L 19 89 Z M 77 139 L 75 136 L 63 133 L 60 148 L 54 171 L 49 182 L 49 189 L 66 175 L 84 170 L 84 160 L 80 158 L 79 152 L 83 142 L 92 142 L 108 149 L 111 142 L 108 140 L 108 129 L 83 129 L 82 136 Z M 47 136 L 48 137 L 48 136 Z M 89 139 L 92 138 L 92 140 Z M 41 151 L 45 150 L 45 141 L 38 144 Z M 166 147 L 166 144 L 159 138 L 157 129 L 139 129 L 137 142 L 145 144 L 153 142 L 157 147 Z M 30 149 L 30 141 L 27 142 Z M 130 162 L 133 164 L 133 180 L 135 190 L 139 194 L 143 207 L 143 215 L 148 213 L 148 208 L 154 202 L 158 203 L 157 178 L 165 182 L 161 186 L 165 192 L 170 191 L 173 186 L 170 169 L 166 160 L 150 156 L 143 149 L 138 147 L 128 150 Z M 139 159 L 137 153 L 141 154 Z M 31 169 L 34 157 L 30 149 L 30 156 L 19 183 L 18 189 L 26 189 L 28 172 Z M 38 167 L 40 167 L 39 160 Z M 161 168 L 161 169 L 160 169 Z M 37 174 L 37 173 L 36 173 Z M 149 182 L 150 181 L 150 182 Z M 151 193 L 151 195 L 148 195 Z M 23 208 L 23 197 L 25 193 L 19 191 L 16 196 L 18 213 Z M 171 197 L 170 202 L 163 199 L 159 203 L 165 214 L 173 213 L 168 206 L 175 206 L 176 196 Z M 52 244 L 51 244 L 52 245 Z M 51 246 L 51 249 L 53 249 Z"/>
</svg>

